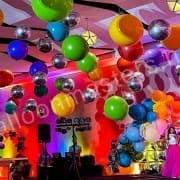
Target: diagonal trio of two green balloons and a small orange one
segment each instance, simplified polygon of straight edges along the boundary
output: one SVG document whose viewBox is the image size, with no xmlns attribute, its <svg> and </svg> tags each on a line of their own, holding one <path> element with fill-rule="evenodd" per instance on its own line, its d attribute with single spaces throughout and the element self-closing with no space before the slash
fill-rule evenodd
<svg viewBox="0 0 180 180">
<path fill-rule="evenodd" d="M 80 35 L 70 35 L 62 42 L 62 54 L 65 58 L 75 61 L 77 67 L 88 74 L 91 80 L 99 80 L 101 72 L 95 54 L 89 52 L 87 41 Z"/>
</svg>

